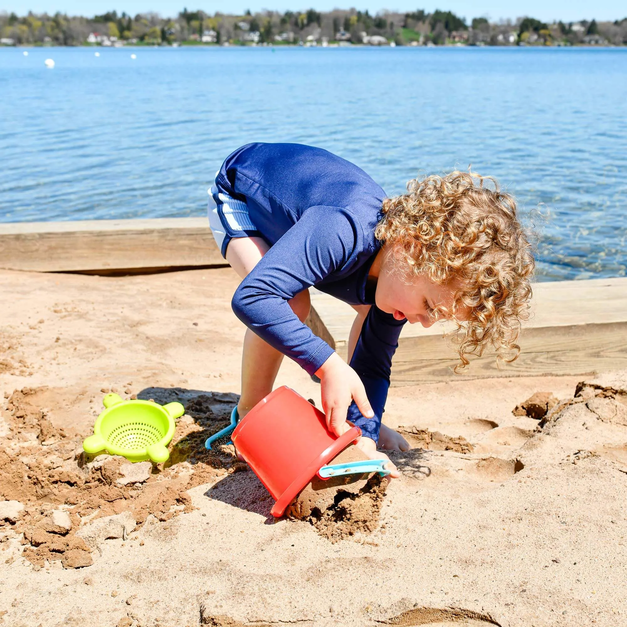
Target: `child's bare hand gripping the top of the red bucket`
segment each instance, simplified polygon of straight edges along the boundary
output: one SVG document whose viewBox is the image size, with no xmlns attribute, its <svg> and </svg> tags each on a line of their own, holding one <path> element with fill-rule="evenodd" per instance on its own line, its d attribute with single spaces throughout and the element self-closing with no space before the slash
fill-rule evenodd
<svg viewBox="0 0 627 627">
<path fill-rule="evenodd" d="M 337 353 L 332 354 L 315 374 L 320 378 L 322 411 L 327 417 L 327 428 L 338 438 L 350 429 L 346 424 L 346 414 L 352 401 L 366 418 L 374 418 L 359 375 Z"/>
</svg>

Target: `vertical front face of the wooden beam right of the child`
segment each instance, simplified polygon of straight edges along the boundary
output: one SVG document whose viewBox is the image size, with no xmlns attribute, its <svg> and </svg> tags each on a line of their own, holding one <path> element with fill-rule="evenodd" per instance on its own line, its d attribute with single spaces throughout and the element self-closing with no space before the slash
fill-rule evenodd
<svg viewBox="0 0 627 627">
<path fill-rule="evenodd" d="M 590 374 L 627 368 L 627 322 L 527 329 L 520 338 L 520 357 L 498 366 L 495 356 L 471 358 L 464 374 L 455 374 L 456 354 L 435 335 L 399 342 L 392 362 L 391 384 L 407 386 L 465 377 L 521 377 Z"/>
</svg>

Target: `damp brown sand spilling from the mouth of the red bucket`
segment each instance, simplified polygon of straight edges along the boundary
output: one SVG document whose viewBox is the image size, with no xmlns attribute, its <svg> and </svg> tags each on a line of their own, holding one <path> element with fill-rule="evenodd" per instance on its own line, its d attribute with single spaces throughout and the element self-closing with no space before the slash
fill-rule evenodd
<svg viewBox="0 0 627 627">
<path fill-rule="evenodd" d="M 356 446 L 349 446 L 333 463 L 367 459 Z M 337 542 L 356 533 L 369 533 L 379 525 L 387 479 L 377 473 L 344 475 L 308 483 L 288 507 L 286 514 L 307 520 L 323 537 Z"/>
</svg>

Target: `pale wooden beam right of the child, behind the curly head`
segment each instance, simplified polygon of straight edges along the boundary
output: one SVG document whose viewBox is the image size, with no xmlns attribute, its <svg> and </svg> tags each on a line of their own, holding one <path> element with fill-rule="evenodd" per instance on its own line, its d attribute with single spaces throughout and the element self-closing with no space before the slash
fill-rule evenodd
<svg viewBox="0 0 627 627">
<path fill-rule="evenodd" d="M 346 358 L 355 312 L 317 290 L 312 305 Z M 627 278 L 561 281 L 534 285 L 532 318 L 520 338 L 521 355 L 499 369 L 495 357 L 471 359 L 465 377 L 586 374 L 627 367 Z M 406 324 L 399 338 L 392 384 L 410 385 L 457 377 L 455 351 L 443 338 L 453 325 Z"/>
</svg>

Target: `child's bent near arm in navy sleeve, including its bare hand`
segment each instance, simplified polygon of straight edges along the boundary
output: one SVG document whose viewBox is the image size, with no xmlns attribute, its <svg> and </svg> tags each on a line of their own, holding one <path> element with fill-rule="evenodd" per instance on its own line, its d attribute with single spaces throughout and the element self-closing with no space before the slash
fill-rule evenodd
<svg viewBox="0 0 627 627">
<path fill-rule="evenodd" d="M 359 376 L 298 320 L 288 300 L 330 273 L 349 268 L 363 250 L 363 238 L 361 223 L 347 209 L 310 207 L 241 282 L 232 302 L 237 317 L 261 339 L 309 374 L 320 370 L 323 404 L 335 409 L 337 424 L 344 424 L 351 399 L 362 414 L 374 415 L 366 391 Z"/>
</svg>

